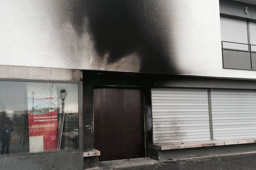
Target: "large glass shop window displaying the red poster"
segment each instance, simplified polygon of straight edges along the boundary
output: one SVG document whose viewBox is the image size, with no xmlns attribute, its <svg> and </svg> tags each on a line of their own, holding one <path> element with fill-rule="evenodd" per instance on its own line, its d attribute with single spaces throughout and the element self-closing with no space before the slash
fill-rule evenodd
<svg viewBox="0 0 256 170">
<path fill-rule="evenodd" d="M 78 84 L 0 81 L 1 154 L 78 149 Z"/>
</svg>

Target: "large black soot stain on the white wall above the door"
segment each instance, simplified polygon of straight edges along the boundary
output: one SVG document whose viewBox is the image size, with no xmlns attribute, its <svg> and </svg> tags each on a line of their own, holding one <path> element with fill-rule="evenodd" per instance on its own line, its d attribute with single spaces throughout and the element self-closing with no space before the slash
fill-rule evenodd
<svg viewBox="0 0 256 170">
<path fill-rule="evenodd" d="M 85 30 L 100 57 L 114 63 L 129 54 L 141 59 L 140 72 L 174 73 L 164 4 L 156 0 L 78 0 L 72 25 Z"/>
</svg>

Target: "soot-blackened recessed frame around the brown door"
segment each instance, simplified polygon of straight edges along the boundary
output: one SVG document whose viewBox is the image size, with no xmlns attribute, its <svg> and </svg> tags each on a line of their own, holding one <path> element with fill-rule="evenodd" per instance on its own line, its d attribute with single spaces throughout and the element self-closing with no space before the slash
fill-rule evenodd
<svg viewBox="0 0 256 170">
<path fill-rule="evenodd" d="M 94 147 L 93 89 L 138 89 L 143 94 L 144 147 L 149 157 L 148 144 L 152 143 L 151 81 L 141 74 L 113 73 L 108 71 L 83 71 L 83 126 L 84 149 Z"/>
</svg>

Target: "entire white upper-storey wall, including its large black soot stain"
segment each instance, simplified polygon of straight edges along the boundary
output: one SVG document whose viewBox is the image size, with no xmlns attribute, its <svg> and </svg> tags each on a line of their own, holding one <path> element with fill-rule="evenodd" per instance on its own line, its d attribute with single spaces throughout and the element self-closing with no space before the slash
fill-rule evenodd
<svg viewBox="0 0 256 170">
<path fill-rule="evenodd" d="M 222 67 L 221 4 L 3 0 L 0 65 L 255 79 Z"/>
</svg>

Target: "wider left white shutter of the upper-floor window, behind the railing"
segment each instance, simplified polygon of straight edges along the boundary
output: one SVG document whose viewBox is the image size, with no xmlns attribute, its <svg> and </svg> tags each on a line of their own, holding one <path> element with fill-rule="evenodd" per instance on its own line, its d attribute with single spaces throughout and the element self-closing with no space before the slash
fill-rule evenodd
<svg viewBox="0 0 256 170">
<path fill-rule="evenodd" d="M 221 17 L 221 41 L 248 44 L 247 22 L 233 18 Z M 248 45 L 223 42 L 223 48 L 249 50 Z"/>
</svg>

